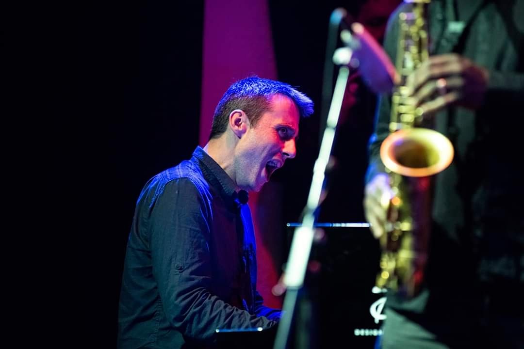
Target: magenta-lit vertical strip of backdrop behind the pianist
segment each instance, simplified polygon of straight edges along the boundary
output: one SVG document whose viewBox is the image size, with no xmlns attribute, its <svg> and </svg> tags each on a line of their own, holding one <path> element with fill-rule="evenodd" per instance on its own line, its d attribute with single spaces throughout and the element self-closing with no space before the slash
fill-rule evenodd
<svg viewBox="0 0 524 349">
<path fill-rule="evenodd" d="M 204 6 L 200 145 L 209 139 L 214 109 L 227 87 L 249 75 L 276 79 L 275 54 L 266 0 L 208 0 Z M 281 190 L 275 184 L 249 194 L 255 224 L 258 290 L 266 305 L 280 308 L 271 294 L 283 257 Z"/>
</svg>

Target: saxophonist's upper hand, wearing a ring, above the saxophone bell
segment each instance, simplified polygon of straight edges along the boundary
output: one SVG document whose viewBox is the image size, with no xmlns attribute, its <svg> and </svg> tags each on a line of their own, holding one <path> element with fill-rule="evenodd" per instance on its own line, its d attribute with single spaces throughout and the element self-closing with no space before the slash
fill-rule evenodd
<svg viewBox="0 0 524 349">
<path fill-rule="evenodd" d="M 408 76 L 406 84 L 423 116 L 450 105 L 482 106 L 489 72 L 456 53 L 435 55 Z"/>
</svg>

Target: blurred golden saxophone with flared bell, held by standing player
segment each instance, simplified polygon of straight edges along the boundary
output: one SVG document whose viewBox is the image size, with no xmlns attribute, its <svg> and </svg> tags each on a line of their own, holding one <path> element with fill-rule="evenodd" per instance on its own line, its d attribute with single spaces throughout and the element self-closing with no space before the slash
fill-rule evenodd
<svg viewBox="0 0 524 349">
<path fill-rule="evenodd" d="M 423 280 L 431 225 L 431 178 L 453 160 L 453 145 L 443 134 L 417 127 L 421 111 L 409 97 L 408 75 L 428 59 L 425 10 L 429 0 L 411 0 L 399 13 L 396 69 L 400 82 L 391 97 L 390 134 L 380 147 L 380 158 L 391 178 L 394 197 L 390 223 L 380 238 L 383 254 L 376 279 L 380 288 L 416 295 Z M 394 217 L 394 212 L 395 216 Z"/>
</svg>

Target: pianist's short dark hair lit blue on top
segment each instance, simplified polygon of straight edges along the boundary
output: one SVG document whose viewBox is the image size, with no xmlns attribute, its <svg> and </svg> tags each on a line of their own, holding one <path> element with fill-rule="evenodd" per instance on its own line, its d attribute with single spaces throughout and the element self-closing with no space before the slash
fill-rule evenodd
<svg viewBox="0 0 524 349">
<path fill-rule="evenodd" d="M 301 117 L 313 114 L 313 101 L 290 85 L 250 76 L 233 83 L 222 96 L 213 115 L 209 139 L 218 138 L 226 131 L 229 115 L 235 109 L 243 110 L 249 122 L 256 126 L 262 114 L 270 110 L 270 98 L 277 94 L 291 98 Z"/>
</svg>

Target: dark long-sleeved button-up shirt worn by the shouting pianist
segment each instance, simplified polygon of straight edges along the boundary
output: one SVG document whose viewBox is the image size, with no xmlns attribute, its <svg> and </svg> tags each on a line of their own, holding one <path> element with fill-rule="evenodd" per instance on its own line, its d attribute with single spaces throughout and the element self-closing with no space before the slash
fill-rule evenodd
<svg viewBox="0 0 524 349">
<path fill-rule="evenodd" d="M 242 201 L 200 147 L 148 181 L 127 245 L 119 347 L 199 347 L 217 328 L 276 324 L 280 311 L 256 291 L 253 222 Z"/>
</svg>

